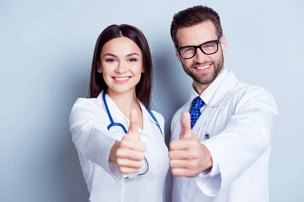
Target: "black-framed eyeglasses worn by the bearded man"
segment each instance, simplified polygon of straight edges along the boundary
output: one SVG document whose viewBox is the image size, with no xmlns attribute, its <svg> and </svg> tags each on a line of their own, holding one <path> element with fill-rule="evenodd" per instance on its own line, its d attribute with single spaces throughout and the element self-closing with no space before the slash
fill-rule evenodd
<svg viewBox="0 0 304 202">
<path fill-rule="evenodd" d="M 176 47 L 176 51 L 178 51 L 180 57 L 183 59 L 193 58 L 196 55 L 198 48 L 200 48 L 204 54 L 212 55 L 218 51 L 218 43 L 221 42 L 221 40 L 222 37 L 220 37 L 218 40 L 208 41 L 200 45 L 186 45 L 182 47 Z"/>
</svg>

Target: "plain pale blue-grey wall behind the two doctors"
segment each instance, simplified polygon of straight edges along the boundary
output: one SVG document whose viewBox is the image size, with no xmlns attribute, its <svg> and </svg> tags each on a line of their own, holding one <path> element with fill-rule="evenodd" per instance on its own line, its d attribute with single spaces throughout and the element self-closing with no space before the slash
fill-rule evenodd
<svg viewBox="0 0 304 202">
<path fill-rule="evenodd" d="M 134 25 L 147 37 L 153 102 L 170 135 L 171 118 L 191 88 L 174 55 L 170 23 L 174 13 L 199 4 L 220 15 L 225 67 L 276 98 L 271 201 L 304 201 L 303 1 L 109 2 L 0 2 L 0 201 L 88 201 L 68 116 L 87 95 L 94 45 L 110 24 Z"/>
</svg>

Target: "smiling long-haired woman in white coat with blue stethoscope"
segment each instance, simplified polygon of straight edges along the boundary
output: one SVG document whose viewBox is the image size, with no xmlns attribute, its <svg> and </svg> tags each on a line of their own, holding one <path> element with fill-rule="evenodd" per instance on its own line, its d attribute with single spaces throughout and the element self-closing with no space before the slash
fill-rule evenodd
<svg viewBox="0 0 304 202">
<path fill-rule="evenodd" d="M 143 33 L 111 25 L 99 35 L 89 98 L 69 123 L 90 201 L 164 201 L 169 167 L 164 118 L 149 110 L 153 68 Z"/>
</svg>

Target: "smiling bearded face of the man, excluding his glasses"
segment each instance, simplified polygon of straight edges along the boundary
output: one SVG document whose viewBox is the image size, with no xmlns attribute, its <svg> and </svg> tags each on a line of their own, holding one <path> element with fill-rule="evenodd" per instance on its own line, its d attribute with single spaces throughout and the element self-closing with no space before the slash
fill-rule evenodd
<svg viewBox="0 0 304 202">
<path fill-rule="evenodd" d="M 199 45 L 217 39 L 219 38 L 216 35 L 215 26 L 211 21 L 179 28 L 176 32 L 176 40 L 179 47 Z M 223 70 L 225 45 L 225 36 L 222 36 L 222 41 L 218 44 L 218 51 L 212 55 L 205 55 L 198 48 L 196 55 L 191 59 L 181 58 L 177 51 L 176 57 L 181 62 L 184 71 L 193 78 L 195 85 L 209 85 Z"/>
</svg>

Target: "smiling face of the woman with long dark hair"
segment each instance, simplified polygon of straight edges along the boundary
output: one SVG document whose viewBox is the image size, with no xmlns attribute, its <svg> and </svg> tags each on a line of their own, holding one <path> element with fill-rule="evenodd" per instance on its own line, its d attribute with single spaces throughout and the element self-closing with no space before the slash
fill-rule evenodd
<svg viewBox="0 0 304 202">
<path fill-rule="evenodd" d="M 140 48 L 124 36 L 107 41 L 101 49 L 98 71 L 109 91 L 135 91 L 143 72 Z"/>
</svg>

